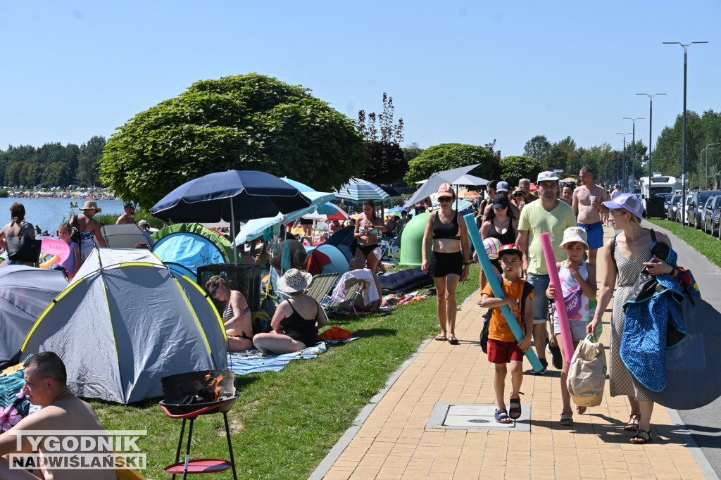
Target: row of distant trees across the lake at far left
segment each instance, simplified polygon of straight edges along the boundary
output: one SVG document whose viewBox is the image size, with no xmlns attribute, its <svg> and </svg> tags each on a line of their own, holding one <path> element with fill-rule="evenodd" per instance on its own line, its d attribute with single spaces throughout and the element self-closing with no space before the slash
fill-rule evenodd
<svg viewBox="0 0 721 480">
<path fill-rule="evenodd" d="M 11 145 L 7 150 L 0 149 L 0 185 L 44 188 L 97 185 L 105 143 L 104 137 L 96 135 L 81 146 L 45 143 L 40 148 Z"/>
</svg>

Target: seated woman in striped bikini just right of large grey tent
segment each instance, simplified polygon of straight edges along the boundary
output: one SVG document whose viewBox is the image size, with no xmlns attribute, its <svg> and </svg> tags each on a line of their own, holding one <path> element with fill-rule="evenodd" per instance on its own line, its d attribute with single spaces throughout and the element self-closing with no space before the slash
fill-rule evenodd
<svg viewBox="0 0 721 480">
<path fill-rule="evenodd" d="M 250 350 L 253 347 L 253 323 L 250 306 L 243 294 L 231 288 L 230 280 L 225 275 L 211 277 L 211 280 L 205 283 L 205 290 L 208 290 L 212 297 L 226 303 L 223 325 L 228 335 L 228 351 Z"/>
</svg>

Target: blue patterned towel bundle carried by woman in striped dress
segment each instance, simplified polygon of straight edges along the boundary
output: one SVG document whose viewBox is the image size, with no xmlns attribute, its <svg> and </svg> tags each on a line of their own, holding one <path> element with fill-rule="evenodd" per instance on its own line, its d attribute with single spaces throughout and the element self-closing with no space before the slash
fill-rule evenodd
<svg viewBox="0 0 721 480">
<path fill-rule="evenodd" d="M 668 245 L 657 241 L 651 252 L 676 267 L 678 255 Z M 634 378 L 651 391 L 666 386 L 665 350 L 686 337 L 678 307 L 683 301 L 678 280 L 644 270 L 624 303 L 621 358 Z"/>
</svg>

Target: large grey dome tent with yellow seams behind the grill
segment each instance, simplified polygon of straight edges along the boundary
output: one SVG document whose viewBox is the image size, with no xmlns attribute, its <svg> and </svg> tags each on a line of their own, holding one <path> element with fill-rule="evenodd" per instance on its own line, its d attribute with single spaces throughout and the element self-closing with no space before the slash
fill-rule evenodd
<svg viewBox="0 0 721 480">
<path fill-rule="evenodd" d="M 164 376 L 227 365 L 208 294 L 146 249 L 95 249 L 27 334 L 23 357 L 44 351 L 74 394 L 121 404 L 162 396 Z"/>
</svg>

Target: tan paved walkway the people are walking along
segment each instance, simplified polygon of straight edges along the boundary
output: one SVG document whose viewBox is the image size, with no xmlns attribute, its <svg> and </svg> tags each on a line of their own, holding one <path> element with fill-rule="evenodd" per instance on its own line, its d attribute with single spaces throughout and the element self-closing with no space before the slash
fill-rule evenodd
<svg viewBox="0 0 721 480">
<path fill-rule="evenodd" d="M 610 235 L 607 228 L 606 237 Z M 603 271 L 602 265 L 599 270 Z M 523 406 L 532 407 L 530 432 L 427 428 L 437 403 L 495 403 L 494 367 L 478 343 L 482 309 L 477 301 L 479 294 L 459 311 L 460 345 L 425 342 L 386 391 L 361 412 L 311 479 L 702 479 L 714 475 L 683 425 L 674 425 L 663 407 L 657 406 L 653 413 L 653 443 L 630 444 L 632 435 L 622 428 L 629 416 L 628 400 L 611 398 L 608 386 L 601 406 L 575 414 L 573 427 L 559 425 L 560 372 L 553 368 L 545 376 L 528 372 L 523 376 Z M 610 319 L 611 306 L 603 317 L 606 346 Z M 528 362 L 524 367 L 530 368 Z M 507 381 L 507 391 L 509 385 Z"/>
</svg>

